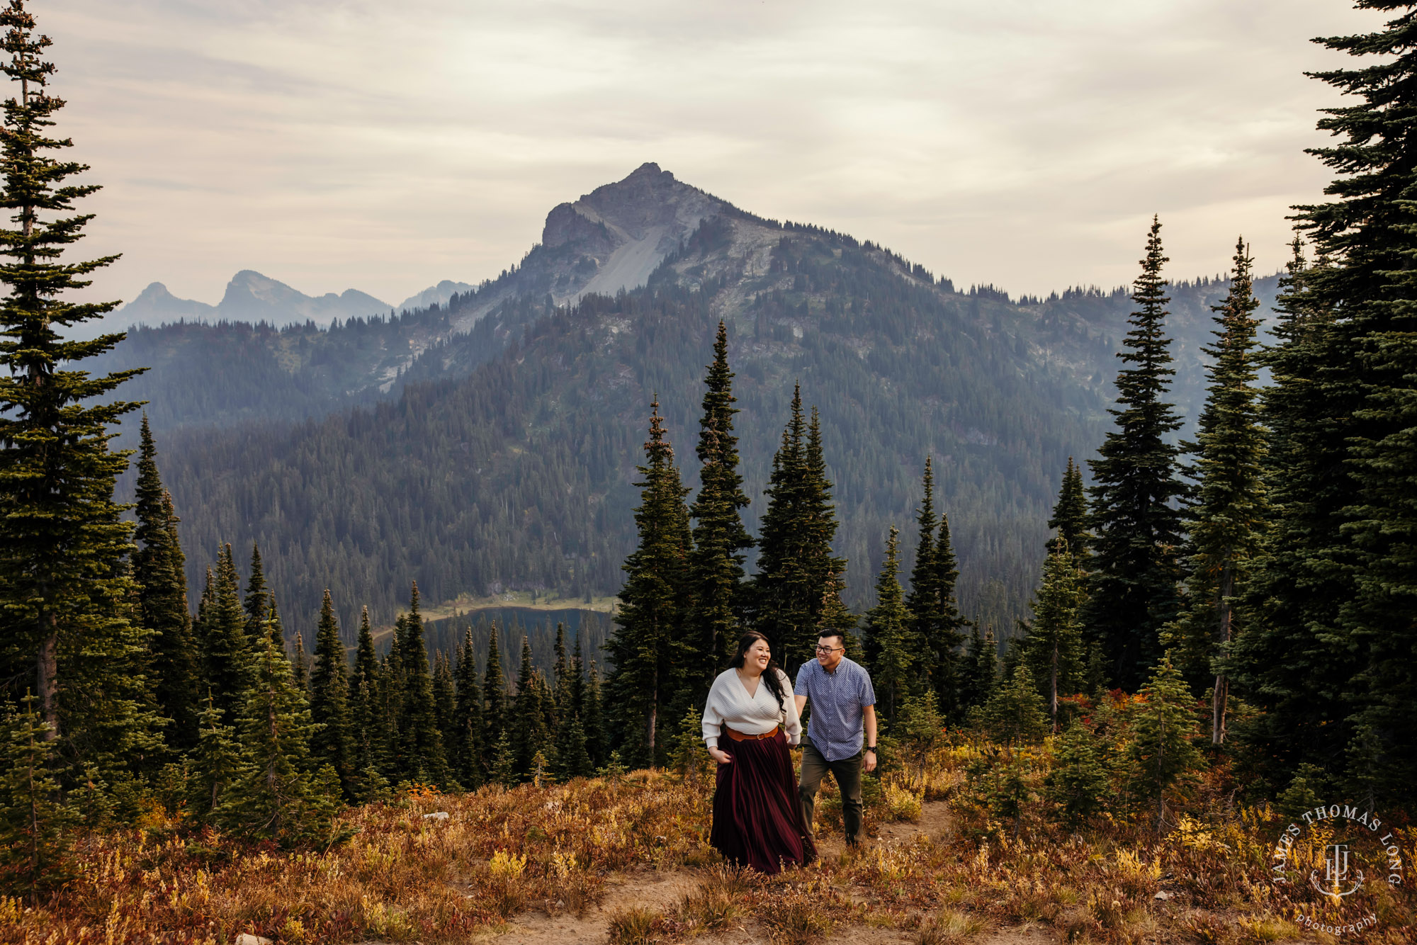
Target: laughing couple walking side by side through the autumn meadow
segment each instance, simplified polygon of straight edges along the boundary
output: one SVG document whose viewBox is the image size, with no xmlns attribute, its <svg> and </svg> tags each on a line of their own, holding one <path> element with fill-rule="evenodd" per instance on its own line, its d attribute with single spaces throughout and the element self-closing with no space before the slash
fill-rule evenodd
<svg viewBox="0 0 1417 945">
<path fill-rule="evenodd" d="M 828 771 L 842 792 L 846 842 L 860 839 L 862 771 L 876 769 L 876 691 L 866 670 L 846 659 L 842 633 L 825 630 L 816 643 L 816 659 L 802 664 L 788 693 L 768 639 L 744 633 L 704 706 L 704 741 L 718 762 L 710 840 L 730 863 L 761 873 L 816 856 L 812 806 Z M 806 703 L 812 721 L 798 782 L 788 745 L 802 737 Z"/>
</svg>

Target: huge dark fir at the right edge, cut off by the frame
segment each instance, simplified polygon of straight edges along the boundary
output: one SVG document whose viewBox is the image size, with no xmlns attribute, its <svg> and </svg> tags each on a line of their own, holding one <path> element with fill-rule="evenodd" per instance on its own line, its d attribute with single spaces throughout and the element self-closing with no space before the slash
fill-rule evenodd
<svg viewBox="0 0 1417 945">
<path fill-rule="evenodd" d="M 1318 123 L 1339 140 L 1311 150 L 1338 174 L 1332 200 L 1297 208 L 1331 259 L 1304 273 L 1295 299 L 1316 323 L 1285 324 L 1270 361 L 1267 414 L 1281 407 L 1292 421 L 1282 436 L 1305 456 L 1289 470 L 1271 466 L 1270 639 L 1254 656 L 1277 660 L 1251 662 L 1251 673 L 1272 715 L 1270 744 L 1301 734 L 1299 747 L 1275 747 L 1294 765 L 1285 774 L 1302 761 L 1332 774 L 1346 761 L 1355 792 L 1404 805 L 1417 800 L 1417 11 L 1399 0 L 1357 6 L 1396 16 L 1367 34 L 1319 40 L 1369 58 L 1315 74 L 1349 103 Z"/>
</svg>

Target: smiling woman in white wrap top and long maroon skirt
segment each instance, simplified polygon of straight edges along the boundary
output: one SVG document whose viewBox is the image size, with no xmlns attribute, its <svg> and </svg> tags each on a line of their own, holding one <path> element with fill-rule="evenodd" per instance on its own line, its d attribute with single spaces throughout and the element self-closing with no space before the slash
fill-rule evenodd
<svg viewBox="0 0 1417 945">
<path fill-rule="evenodd" d="M 796 701 L 768 638 L 744 633 L 704 706 L 704 741 L 718 762 L 710 842 L 728 861 L 778 873 L 784 863 L 816 856 L 788 754 L 801 737 Z"/>
</svg>

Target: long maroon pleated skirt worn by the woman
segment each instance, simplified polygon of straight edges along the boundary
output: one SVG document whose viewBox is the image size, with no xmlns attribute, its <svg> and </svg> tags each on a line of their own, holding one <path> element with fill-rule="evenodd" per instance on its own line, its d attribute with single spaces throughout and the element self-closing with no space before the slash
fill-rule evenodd
<svg viewBox="0 0 1417 945">
<path fill-rule="evenodd" d="M 713 795 L 710 843 L 735 866 L 778 873 L 816 857 L 802 825 L 802 806 L 792 775 L 788 740 L 779 728 L 772 738 L 718 740 L 733 764 L 718 765 Z"/>
</svg>

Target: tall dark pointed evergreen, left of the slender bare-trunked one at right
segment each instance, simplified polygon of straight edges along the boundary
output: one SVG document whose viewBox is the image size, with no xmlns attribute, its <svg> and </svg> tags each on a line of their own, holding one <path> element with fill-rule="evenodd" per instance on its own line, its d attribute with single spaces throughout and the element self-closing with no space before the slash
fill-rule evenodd
<svg viewBox="0 0 1417 945">
<path fill-rule="evenodd" d="M 1087 630 L 1098 639 L 1111 662 L 1112 677 L 1135 689 L 1142 673 L 1159 656 L 1161 628 L 1176 619 L 1180 598 L 1176 561 L 1182 540 L 1185 485 L 1176 477 L 1178 448 L 1166 435 L 1180 428 L 1180 418 L 1166 395 L 1170 375 L 1170 340 L 1165 336 L 1166 262 L 1161 222 L 1152 220 L 1142 275 L 1132 283 L 1138 306 L 1129 316 L 1132 330 L 1122 341 L 1125 364 L 1117 374 L 1117 429 L 1091 460 L 1093 468 L 1093 571 L 1088 587 Z"/>
</svg>

